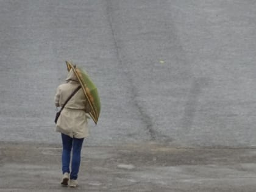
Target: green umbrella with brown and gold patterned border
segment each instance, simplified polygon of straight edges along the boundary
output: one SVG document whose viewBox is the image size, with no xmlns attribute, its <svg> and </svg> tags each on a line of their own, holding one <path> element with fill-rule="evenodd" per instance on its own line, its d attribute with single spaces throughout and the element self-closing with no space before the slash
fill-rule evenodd
<svg viewBox="0 0 256 192">
<path fill-rule="evenodd" d="M 94 123 L 97 124 L 99 119 L 99 113 L 101 112 L 101 102 L 99 99 L 97 87 L 93 84 L 93 81 L 90 79 L 84 69 L 81 69 L 68 61 L 66 61 L 66 66 L 68 68 L 68 71 L 73 69 L 74 74 L 76 74 L 76 77 L 79 80 L 79 83 L 84 91 L 85 98 L 90 104 L 91 112 L 89 112 L 89 115 L 93 119 Z"/>
</svg>

